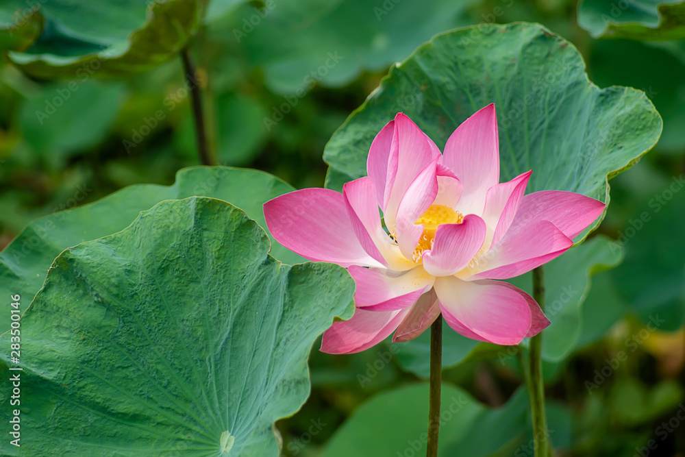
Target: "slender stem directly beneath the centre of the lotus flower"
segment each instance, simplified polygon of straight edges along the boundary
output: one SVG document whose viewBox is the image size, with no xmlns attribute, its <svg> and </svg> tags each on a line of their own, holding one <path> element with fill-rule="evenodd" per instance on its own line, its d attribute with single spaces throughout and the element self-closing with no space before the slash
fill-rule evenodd
<svg viewBox="0 0 685 457">
<path fill-rule="evenodd" d="M 428 400 L 428 444 L 426 457 L 438 455 L 440 431 L 440 383 L 443 377 L 443 316 L 430 326 L 430 388 Z"/>
</svg>

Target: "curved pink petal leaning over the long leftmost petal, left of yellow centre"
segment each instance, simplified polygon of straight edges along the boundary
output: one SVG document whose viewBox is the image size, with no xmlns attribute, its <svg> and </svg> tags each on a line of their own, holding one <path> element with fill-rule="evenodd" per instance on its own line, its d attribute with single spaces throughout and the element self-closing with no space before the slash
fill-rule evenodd
<svg viewBox="0 0 685 457">
<path fill-rule="evenodd" d="M 399 248 L 390 243 L 388 234 L 383 230 L 370 177 L 347 182 L 343 186 L 343 197 L 352 228 L 369 256 L 393 270 L 415 267 L 414 262 L 407 260 Z"/>
</svg>

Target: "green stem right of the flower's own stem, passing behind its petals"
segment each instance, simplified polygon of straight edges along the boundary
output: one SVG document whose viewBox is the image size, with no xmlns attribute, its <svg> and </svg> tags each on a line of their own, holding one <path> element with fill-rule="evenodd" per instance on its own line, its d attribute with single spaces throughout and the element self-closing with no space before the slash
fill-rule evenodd
<svg viewBox="0 0 685 457">
<path fill-rule="evenodd" d="M 545 273 L 543 267 L 537 267 L 533 270 L 533 298 L 540 305 L 540 309 L 545 311 Z M 533 413 L 535 457 L 551 457 L 547 417 L 545 417 L 542 349 L 543 334 L 540 332 L 530 338 L 528 393 L 530 395 L 530 409 Z"/>
</svg>

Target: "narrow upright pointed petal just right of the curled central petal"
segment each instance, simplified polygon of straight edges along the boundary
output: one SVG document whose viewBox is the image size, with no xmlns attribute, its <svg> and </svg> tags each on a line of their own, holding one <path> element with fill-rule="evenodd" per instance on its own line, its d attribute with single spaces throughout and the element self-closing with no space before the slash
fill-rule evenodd
<svg viewBox="0 0 685 457">
<path fill-rule="evenodd" d="M 485 197 L 483 219 L 488 226 L 486 249 L 499 243 L 514 220 L 516 210 L 525 193 L 530 173 L 523 173 L 509 182 L 497 184 L 488 189 Z"/>
</svg>

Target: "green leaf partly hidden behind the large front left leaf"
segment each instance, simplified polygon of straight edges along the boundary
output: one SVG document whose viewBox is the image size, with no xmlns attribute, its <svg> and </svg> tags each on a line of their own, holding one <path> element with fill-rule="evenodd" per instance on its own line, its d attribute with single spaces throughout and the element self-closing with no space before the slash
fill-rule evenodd
<svg viewBox="0 0 685 457">
<path fill-rule="evenodd" d="M 254 170 L 197 167 L 179 171 L 173 186 L 138 184 L 123 188 L 95 203 L 37 219 L 0 253 L 0 295 L 23 297 L 22 308 L 38 293 L 55 257 L 68 247 L 119 232 L 140 211 L 160 201 L 203 195 L 230 201 L 265 227 L 262 203 L 294 190 L 276 177 Z M 88 189 L 82 189 L 87 193 Z M 76 197 L 82 198 L 81 194 Z M 271 254 L 290 264 L 301 257 L 271 239 Z M 0 315 L 0 329 L 9 328 L 8 313 Z"/>
</svg>

